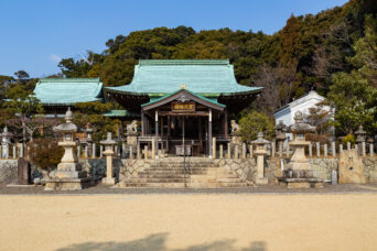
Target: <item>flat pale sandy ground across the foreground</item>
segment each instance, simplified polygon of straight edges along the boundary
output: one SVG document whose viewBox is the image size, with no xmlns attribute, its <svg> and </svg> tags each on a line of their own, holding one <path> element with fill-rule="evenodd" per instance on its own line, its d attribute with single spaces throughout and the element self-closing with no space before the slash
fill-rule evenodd
<svg viewBox="0 0 377 251">
<path fill-rule="evenodd" d="M 377 194 L 2 195 L 0 250 L 377 250 Z"/>
</svg>

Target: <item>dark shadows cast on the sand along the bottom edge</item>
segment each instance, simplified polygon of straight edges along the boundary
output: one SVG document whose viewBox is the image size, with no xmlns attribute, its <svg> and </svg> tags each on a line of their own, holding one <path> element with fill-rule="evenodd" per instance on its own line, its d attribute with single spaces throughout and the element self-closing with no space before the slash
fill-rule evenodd
<svg viewBox="0 0 377 251">
<path fill-rule="evenodd" d="M 129 242 L 85 242 L 72 244 L 56 251 L 266 251 L 265 241 L 254 241 L 247 248 L 235 248 L 235 240 L 222 240 L 211 243 L 187 247 L 185 249 L 168 249 L 165 245 L 168 233 L 151 234 L 146 238 Z"/>
</svg>

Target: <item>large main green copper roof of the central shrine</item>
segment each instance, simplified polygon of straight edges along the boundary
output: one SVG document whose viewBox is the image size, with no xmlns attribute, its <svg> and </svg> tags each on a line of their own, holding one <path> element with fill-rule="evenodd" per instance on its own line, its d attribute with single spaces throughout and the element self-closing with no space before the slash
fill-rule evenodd
<svg viewBox="0 0 377 251">
<path fill-rule="evenodd" d="M 174 92 L 182 84 L 204 97 L 259 92 L 262 88 L 239 85 L 228 59 L 140 59 L 131 84 L 106 89 L 162 97 Z"/>
</svg>

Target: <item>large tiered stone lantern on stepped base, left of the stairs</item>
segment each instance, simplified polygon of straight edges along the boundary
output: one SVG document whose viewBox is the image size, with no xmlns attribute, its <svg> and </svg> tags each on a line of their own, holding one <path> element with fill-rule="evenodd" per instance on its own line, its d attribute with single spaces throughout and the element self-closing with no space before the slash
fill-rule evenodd
<svg viewBox="0 0 377 251">
<path fill-rule="evenodd" d="M 64 148 L 64 155 L 57 164 L 57 171 L 51 173 L 52 178 L 46 181 L 45 189 L 75 190 L 87 186 L 89 178 L 86 171 L 78 163 L 75 148 L 77 127 L 72 122 L 73 113 L 68 108 L 65 113 L 65 123 L 54 127 L 54 131 L 61 134 L 58 145 Z"/>
</svg>

